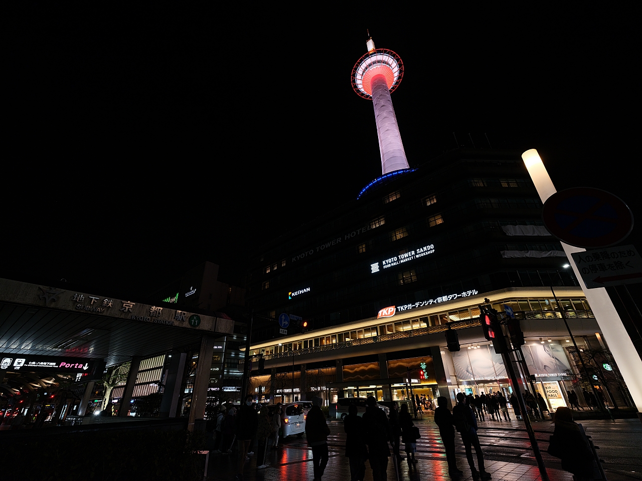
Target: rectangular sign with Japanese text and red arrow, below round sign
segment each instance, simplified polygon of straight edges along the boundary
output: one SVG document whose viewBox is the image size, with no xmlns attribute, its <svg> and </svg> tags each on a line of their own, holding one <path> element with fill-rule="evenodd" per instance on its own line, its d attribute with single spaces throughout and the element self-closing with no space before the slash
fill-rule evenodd
<svg viewBox="0 0 642 481">
<path fill-rule="evenodd" d="M 571 254 L 589 289 L 642 282 L 642 260 L 634 246 Z"/>
</svg>

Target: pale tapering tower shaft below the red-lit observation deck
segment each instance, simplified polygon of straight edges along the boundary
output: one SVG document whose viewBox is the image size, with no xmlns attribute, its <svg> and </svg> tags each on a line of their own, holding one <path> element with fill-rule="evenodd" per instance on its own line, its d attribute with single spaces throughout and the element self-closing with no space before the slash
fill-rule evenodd
<svg viewBox="0 0 642 481">
<path fill-rule="evenodd" d="M 408 160 L 406 160 L 406 152 L 401 142 L 401 134 L 399 134 L 397 117 L 395 117 L 395 110 L 392 107 L 386 78 L 383 75 L 376 75 L 370 82 L 379 150 L 381 151 L 381 171 L 385 175 L 392 171 L 408 169 Z"/>
</svg>

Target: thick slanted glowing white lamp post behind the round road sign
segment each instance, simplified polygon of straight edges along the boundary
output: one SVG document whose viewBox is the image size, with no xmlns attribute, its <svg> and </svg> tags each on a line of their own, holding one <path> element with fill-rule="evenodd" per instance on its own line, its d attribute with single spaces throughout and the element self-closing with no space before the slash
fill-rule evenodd
<svg viewBox="0 0 642 481">
<path fill-rule="evenodd" d="M 557 190 L 555 190 L 553 181 L 551 181 L 550 176 L 548 176 L 542 159 L 535 149 L 527 150 L 522 154 L 522 158 L 528 174 L 530 174 L 530 178 L 535 184 L 535 189 L 537 189 L 537 193 L 542 199 L 542 203 L 546 202 L 546 199 L 555 194 Z M 586 251 L 586 249 L 569 246 L 564 242 L 562 242 L 562 248 L 564 248 L 566 257 L 569 259 L 573 252 Z M 642 421 L 642 375 L 640 375 L 640 373 L 642 373 L 642 359 L 640 359 L 638 351 L 636 351 L 629 337 L 629 333 L 627 333 L 627 330 L 624 328 L 606 289 L 603 287 L 587 289 L 575 262 L 571 262 L 570 264 L 571 267 L 573 267 L 575 276 L 580 283 L 580 287 L 582 287 L 582 291 L 584 291 L 587 301 L 589 301 L 591 305 L 595 320 L 598 326 L 600 326 L 600 330 L 602 330 L 606 341 L 609 343 L 611 353 L 618 363 L 618 367 L 620 367 L 620 372 L 629 388 L 631 397 L 636 403 L 638 417 Z"/>
</svg>

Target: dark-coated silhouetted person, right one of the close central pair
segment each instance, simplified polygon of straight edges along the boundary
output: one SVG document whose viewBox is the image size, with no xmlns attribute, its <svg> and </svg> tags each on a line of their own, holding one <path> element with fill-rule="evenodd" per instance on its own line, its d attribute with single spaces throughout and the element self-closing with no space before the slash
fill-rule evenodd
<svg viewBox="0 0 642 481">
<path fill-rule="evenodd" d="M 377 407 L 377 400 L 374 396 L 368 396 L 365 404 L 363 425 L 365 426 L 372 479 L 386 481 L 388 479 L 388 457 L 390 457 L 388 441 L 392 440 L 392 429 L 386 413 Z"/>
</svg>

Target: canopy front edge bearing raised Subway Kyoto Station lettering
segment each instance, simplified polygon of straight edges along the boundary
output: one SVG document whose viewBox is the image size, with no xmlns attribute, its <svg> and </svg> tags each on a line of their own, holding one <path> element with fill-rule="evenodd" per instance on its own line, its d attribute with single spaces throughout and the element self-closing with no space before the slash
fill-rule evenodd
<svg viewBox="0 0 642 481">
<path fill-rule="evenodd" d="M 119 317 L 129 321 L 142 321 L 163 326 L 228 334 L 234 331 L 234 321 L 231 319 L 6 279 L 0 279 L 0 300 L 96 316 Z"/>
</svg>

